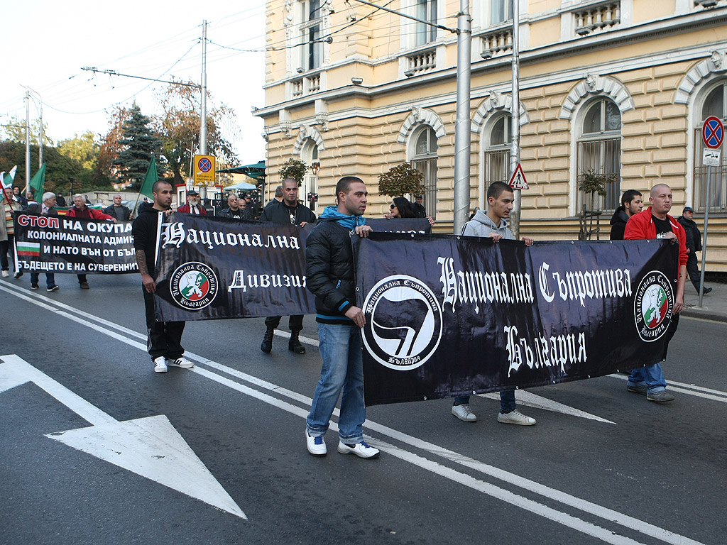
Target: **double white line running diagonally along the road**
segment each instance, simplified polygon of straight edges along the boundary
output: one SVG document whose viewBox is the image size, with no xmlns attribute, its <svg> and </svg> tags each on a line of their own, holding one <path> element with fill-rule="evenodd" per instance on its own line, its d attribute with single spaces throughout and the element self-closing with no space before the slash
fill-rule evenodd
<svg viewBox="0 0 727 545">
<path fill-rule="evenodd" d="M 4 289 L 3 286 L 0 286 L 0 290 L 2 290 L 2 289 Z M 45 305 L 45 304 L 33 301 L 33 299 L 31 299 L 27 296 L 16 294 L 14 291 L 11 291 L 9 289 L 4 289 L 4 291 L 7 291 L 8 293 L 11 293 L 16 296 L 20 296 L 22 299 L 26 299 L 35 304 L 39 304 L 42 307 L 47 307 L 47 305 Z M 33 295 L 35 295 L 35 294 L 33 294 Z M 44 299 L 44 300 L 47 300 L 47 299 Z M 67 308 L 68 310 L 71 310 L 71 312 L 79 312 L 79 314 L 82 314 L 82 315 L 86 316 L 87 318 L 97 319 L 107 326 L 113 326 L 114 328 L 119 329 L 119 330 L 125 329 L 122 326 L 118 326 L 116 324 L 108 322 L 107 320 L 104 320 L 103 318 L 97 318 L 93 315 L 89 315 L 87 312 L 83 312 L 81 310 L 76 310 L 73 307 L 68 307 L 68 305 L 64 305 L 64 307 Z M 108 331 L 104 328 L 95 326 L 95 324 L 89 323 L 87 320 L 83 320 L 81 318 L 76 318 L 73 315 L 69 315 L 67 312 L 59 312 L 59 311 L 55 311 L 55 312 L 58 312 L 60 315 L 64 315 L 67 318 L 70 318 L 71 320 L 74 320 L 78 323 L 83 323 L 86 326 L 89 326 L 91 328 L 96 329 L 97 331 L 100 331 L 104 334 L 107 334 L 107 335 L 110 335 L 110 336 L 113 336 L 114 338 L 116 338 L 116 334 L 113 334 L 113 332 Z M 126 331 L 129 331 L 129 330 L 126 330 Z M 134 336 L 138 337 L 138 336 L 140 336 L 140 334 L 134 333 Z M 131 339 L 124 340 L 123 336 L 119 336 L 119 337 L 121 337 L 119 340 L 121 340 L 122 342 L 126 342 L 126 344 L 131 344 L 133 346 L 136 346 L 136 347 L 140 348 L 140 350 L 144 350 L 144 351 L 146 350 L 145 345 L 142 345 L 137 342 L 133 342 Z M 142 336 L 142 337 L 145 338 L 145 336 Z M 276 392 L 278 395 L 284 395 L 286 397 L 289 397 L 290 399 L 296 400 L 305 405 L 310 406 L 310 403 L 312 401 L 310 399 L 310 397 L 306 397 L 297 392 L 292 392 L 291 390 L 288 390 L 288 389 L 285 389 L 282 387 L 278 387 L 276 384 L 264 381 L 255 376 L 252 376 L 252 375 L 242 373 L 241 371 L 237 371 L 236 369 L 229 368 L 227 366 L 224 366 L 220 363 L 214 362 L 207 358 L 201 357 L 199 355 L 195 355 L 192 352 L 185 352 L 185 356 L 197 361 L 198 363 L 202 363 L 203 365 L 207 365 L 212 368 L 217 368 L 218 370 L 223 371 L 226 374 L 229 374 L 230 376 L 236 376 L 237 378 L 245 380 L 246 382 L 250 382 L 258 387 L 263 387 L 265 389 L 269 389 L 270 391 Z M 278 408 L 282 408 L 283 410 L 285 410 L 289 413 L 292 413 L 294 415 L 301 416 L 302 418 L 305 418 L 305 416 L 308 415 L 307 409 L 297 407 L 296 405 L 291 405 L 290 403 L 287 403 L 283 400 L 279 400 L 277 397 L 273 397 L 273 396 L 270 396 L 263 392 L 260 392 L 256 389 L 246 387 L 243 384 L 234 382 L 233 380 L 227 379 L 224 376 L 214 374 L 211 371 L 207 371 L 206 369 L 201 369 L 201 368 L 195 367 L 195 368 L 190 369 L 190 371 L 193 371 L 193 372 L 196 372 L 197 374 L 206 376 L 206 378 L 212 379 L 215 382 L 218 382 L 218 383 L 228 386 L 232 389 L 235 389 L 238 392 L 244 393 L 245 395 L 249 395 L 256 399 L 262 400 L 265 403 L 269 403 L 270 405 L 275 405 Z M 618 377 L 618 375 L 614 375 L 614 376 Z M 694 395 L 698 395 L 698 394 L 695 393 Z M 707 397 L 707 396 L 704 396 L 704 397 Z M 709 397 L 707 397 L 707 398 L 709 398 Z M 339 414 L 339 411 L 338 411 L 338 409 L 336 409 L 334 411 L 334 415 L 338 416 L 338 414 Z M 391 437 L 395 440 L 399 440 L 402 443 L 406 443 L 414 448 L 419 448 L 419 449 L 422 449 L 435 456 L 440 456 L 444 459 L 455 462 L 457 464 L 462 464 L 465 467 L 469 467 L 470 469 L 474 469 L 478 472 L 482 472 L 491 477 L 495 477 L 499 480 L 503 480 L 506 483 L 510 483 L 512 485 L 518 486 L 527 491 L 531 491 L 533 493 L 538 493 L 539 495 L 544 496 L 546 498 L 550 498 L 555 501 L 561 502 L 563 504 L 580 509 L 583 512 L 601 517 L 604 520 L 608 520 L 609 522 L 614 522 L 616 524 L 622 525 L 625 528 L 630 528 L 632 530 L 638 531 L 640 533 L 645 534 L 646 536 L 651 536 L 653 538 L 659 539 L 660 541 L 664 541 L 665 543 L 672 544 L 672 545 L 703 545 L 699 541 L 694 541 L 690 538 L 687 538 L 686 536 L 680 536 L 677 533 L 672 533 L 669 530 L 664 530 L 663 528 L 659 528 L 658 526 L 648 524 L 648 522 L 643 522 L 634 517 L 630 517 L 626 514 L 619 513 L 617 511 L 608 509 L 608 508 L 600 506 L 598 504 L 593 504 L 592 502 L 584 500 L 582 498 L 577 498 L 576 496 L 571 496 L 570 494 L 563 493 L 561 491 L 558 491 L 554 488 L 547 487 L 545 485 L 541 485 L 534 481 L 525 479 L 524 477 L 520 477 L 519 475 L 515 475 L 515 474 L 507 472 L 505 470 L 490 466 L 489 464 L 484 464 L 481 461 L 470 459 L 467 456 L 462 456 L 459 453 L 456 453 L 454 451 L 449 451 L 449 449 L 442 448 L 438 445 L 434 445 L 433 443 L 428 443 L 426 441 L 419 440 L 417 437 L 412 437 L 411 435 L 403 434 L 402 432 L 398 432 L 395 429 L 391 429 L 391 428 L 385 427 L 381 424 L 377 424 L 376 422 L 367 420 L 364 423 L 364 427 L 366 427 L 367 429 L 372 429 L 375 432 L 378 432 L 382 435 L 387 435 L 388 437 Z M 337 426 L 335 423 L 332 423 L 331 429 L 333 429 L 334 431 L 337 431 Z M 442 477 L 449 478 L 451 480 L 456 481 L 457 483 L 462 483 L 467 486 L 470 486 L 470 484 L 465 483 L 465 481 L 467 481 L 468 479 L 474 480 L 474 478 L 469 475 L 461 474 L 459 472 L 454 471 L 454 469 L 442 467 L 439 464 L 436 464 L 434 461 L 430 461 L 428 459 L 422 458 L 421 456 L 417 456 L 414 453 L 408 453 L 407 451 L 403 451 L 402 449 L 395 447 L 394 445 L 389 445 L 387 443 L 383 443 L 375 438 L 371 439 L 371 444 L 376 445 L 377 448 L 379 448 L 379 445 L 380 445 L 382 447 L 382 451 L 390 453 L 393 456 L 397 456 L 400 459 L 410 461 L 412 464 L 416 464 L 419 467 L 422 467 L 429 471 L 433 471 L 433 472 L 437 473 L 437 475 L 441 475 Z M 417 463 L 417 461 L 419 461 L 419 460 L 422 460 L 421 464 Z M 437 467 L 442 467 L 443 470 L 442 471 L 435 470 L 435 468 L 437 468 Z M 444 469 L 446 469 L 446 471 L 444 471 Z M 450 474 L 450 472 L 451 472 L 451 474 Z M 462 475 L 462 477 L 459 477 L 459 475 Z M 555 519 L 553 519 L 552 517 L 550 517 L 550 513 L 544 514 L 544 512 L 542 512 L 542 510 L 539 510 L 539 509 L 532 510 L 528 506 L 524 506 L 524 504 L 518 503 L 517 501 L 515 501 L 513 499 L 513 498 L 520 498 L 521 496 L 515 496 L 510 491 L 507 491 L 502 488 L 498 488 L 494 485 L 491 485 L 490 483 L 484 483 L 482 481 L 477 481 L 477 480 L 474 480 L 474 481 L 475 481 L 475 483 L 481 483 L 481 485 L 476 485 L 476 486 L 473 485 L 473 486 L 470 486 L 470 488 L 475 488 L 476 490 L 483 491 L 484 493 L 492 492 L 492 494 L 491 494 L 492 496 L 499 498 L 502 501 L 507 501 L 508 503 L 522 506 L 523 509 L 527 509 L 530 512 L 533 512 L 534 514 L 539 514 L 540 516 L 547 517 L 549 520 L 555 520 L 555 522 L 559 522 L 563 525 L 568 526 L 569 528 L 573 528 L 574 530 L 582 531 L 584 533 L 587 533 L 590 536 L 594 536 L 596 538 L 602 539 L 603 541 L 606 541 L 607 543 L 614 543 L 614 544 L 638 543 L 637 541 L 632 541 L 630 538 L 627 538 L 625 536 L 619 536 L 618 534 L 612 533 L 610 530 L 604 530 L 603 528 L 601 528 L 599 526 L 591 525 L 590 522 L 586 522 L 586 521 L 577 519 L 575 517 L 571 517 L 568 514 L 561 513 L 558 511 L 554 511 L 554 512 L 561 515 L 561 517 L 556 517 Z M 473 483 L 473 484 L 475 484 L 475 483 Z M 526 500 L 526 498 L 523 498 L 523 499 Z M 526 501 L 529 501 L 529 500 L 526 500 Z M 540 505 L 540 504 L 536 504 L 536 505 Z M 552 509 L 547 506 L 543 506 L 543 507 L 545 507 L 545 509 Z"/>
</svg>

